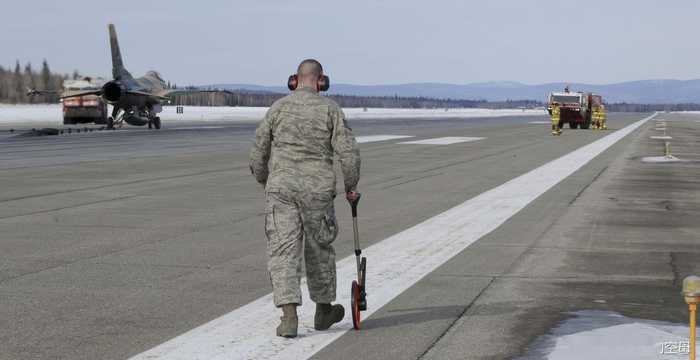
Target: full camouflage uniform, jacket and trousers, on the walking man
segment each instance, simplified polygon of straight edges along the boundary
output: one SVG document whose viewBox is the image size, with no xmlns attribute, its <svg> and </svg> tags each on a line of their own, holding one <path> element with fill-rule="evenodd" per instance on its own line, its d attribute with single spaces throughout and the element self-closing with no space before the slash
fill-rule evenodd
<svg viewBox="0 0 700 360">
<path fill-rule="evenodd" d="M 276 101 L 255 132 L 250 168 L 265 186 L 268 270 L 276 306 L 301 304 L 302 251 L 311 300 L 335 300 L 337 155 L 345 191 L 360 177 L 360 152 L 340 107 L 308 88 Z"/>
</svg>

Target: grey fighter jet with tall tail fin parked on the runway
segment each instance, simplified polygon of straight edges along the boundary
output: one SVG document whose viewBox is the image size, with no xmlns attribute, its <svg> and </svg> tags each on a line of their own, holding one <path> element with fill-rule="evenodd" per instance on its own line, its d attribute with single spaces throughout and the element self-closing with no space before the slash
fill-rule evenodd
<svg viewBox="0 0 700 360">
<path fill-rule="evenodd" d="M 107 119 L 107 128 L 114 128 L 126 122 L 129 125 L 144 126 L 160 129 L 158 113 L 163 111 L 163 103 L 169 101 L 169 96 L 176 93 L 193 92 L 228 92 L 224 90 L 179 90 L 167 89 L 163 78 L 156 71 L 149 71 L 140 78 L 131 76 L 124 67 L 117 32 L 113 24 L 109 24 L 109 45 L 112 50 L 113 80 L 106 82 L 102 88 L 92 91 L 71 93 L 61 99 L 85 95 L 98 95 L 113 106 L 112 116 Z"/>
</svg>

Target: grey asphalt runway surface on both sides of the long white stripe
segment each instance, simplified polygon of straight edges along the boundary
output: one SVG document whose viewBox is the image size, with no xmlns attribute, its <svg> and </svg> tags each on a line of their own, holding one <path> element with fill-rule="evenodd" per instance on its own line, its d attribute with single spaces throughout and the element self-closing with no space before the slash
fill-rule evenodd
<svg viewBox="0 0 700 360">
<path fill-rule="evenodd" d="M 610 131 L 565 129 L 561 137 L 530 123 L 547 121 L 533 116 L 353 121 L 363 160 L 362 241 L 381 247 L 650 115 L 611 114 Z M 659 118 L 674 155 L 687 161 L 641 161 L 663 155 L 664 140 L 651 138 L 660 135 Z M 695 120 L 658 114 L 639 123 L 373 308 L 362 331 L 338 332 L 307 355 L 512 358 L 527 355 L 569 311 L 683 321 L 679 279 L 697 272 L 700 250 Z M 248 169 L 255 124 L 168 125 L 0 132 L 0 328 L 9 329 L 0 333 L 0 358 L 129 358 L 270 293 L 263 192 Z M 336 211 L 343 259 L 352 254 L 344 200 Z M 388 261 L 367 254 L 370 267 Z M 338 291 L 346 296 L 349 283 Z M 271 304 L 270 314 L 277 316 Z M 169 356 L 162 358 L 176 358 Z"/>
</svg>

